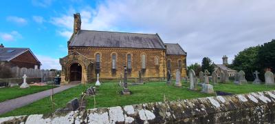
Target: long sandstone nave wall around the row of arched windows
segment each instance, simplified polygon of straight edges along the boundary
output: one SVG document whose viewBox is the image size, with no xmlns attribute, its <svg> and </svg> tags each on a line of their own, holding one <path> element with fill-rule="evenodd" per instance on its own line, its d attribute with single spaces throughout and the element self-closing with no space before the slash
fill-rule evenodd
<svg viewBox="0 0 275 124">
<path fill-rule="evenodd" d="M 69 48 L 69 54 L 77 51 L 94 62 L 91 75 L 96 79 L 96 53 L 100 54 L 100 79 L 120 79 L 120 73 L 123 74 L 124 65 L 126 65 L 127 54 L 132 55 L 132 69 L 128 78 L 138 78 L 138 71 L 142 70 L 142 54 L 146 55 L 146 70 L 142 76 L 145 79 L 164 79 L 166 76 L 165 50 L 157 49 L 133 49 L 133 48 Z M 112 71 L 112 54 L 116 54 L 116 70 Z M 159 65 L 155 65 L 155 57 L 159 58 Z M 184 73 L 185 74 L 185 73 Z M 88 75 L 89 76 L 89 75 Z"/>
</svg>

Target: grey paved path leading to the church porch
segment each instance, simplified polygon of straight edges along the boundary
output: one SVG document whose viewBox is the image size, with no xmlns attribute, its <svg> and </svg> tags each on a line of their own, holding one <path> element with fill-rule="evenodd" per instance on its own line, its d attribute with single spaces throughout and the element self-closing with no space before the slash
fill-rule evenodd
<svg viewBox="0 0 275 124">
<path fill-rule="evenodd" d="M 67 90 L 71 87 L 75 87 L 76 85 L 61 85 L 60 87 L 54 88 L 54 94 L 58 92 L 62 92 L 63 90 Z M 10 99 L 8 101 L 3 101 L 0 103 L 0 114 L 4 114 L 5 112 L 10 112 L 19 107 L 23 107 L 24 105 L 28 105 L 33 103 L 34 101 L 38 101 L 52 94 L 52 89 L 45 90 L 43 92 L 37 92 L 35 94 L 29 94 L 27 96 L 21 96 L 17 99 Z"/>
</svg>

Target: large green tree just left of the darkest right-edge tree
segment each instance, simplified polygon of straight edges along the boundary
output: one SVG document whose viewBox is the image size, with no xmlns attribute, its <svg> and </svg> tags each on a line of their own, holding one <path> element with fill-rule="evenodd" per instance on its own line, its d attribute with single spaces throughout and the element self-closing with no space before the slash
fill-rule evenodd
<svg viewBox="0 0 275 124">
<path fill-rule="evenodd" d="M 245 72 L 245 79 L 248 81 L 254 81 L 253 72 L 259 70 L 259 63 L 257 63 L 258 52 L 260 46 L 246 48 L 235 55 L 232 65 L 230 68 L 234 70 L 243 70 Z"/>
</svg>

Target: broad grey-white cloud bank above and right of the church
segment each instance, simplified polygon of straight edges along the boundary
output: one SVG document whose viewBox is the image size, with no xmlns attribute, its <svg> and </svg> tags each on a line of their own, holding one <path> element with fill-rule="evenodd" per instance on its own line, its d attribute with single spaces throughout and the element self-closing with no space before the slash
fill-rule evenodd
<svg viewBox="0 0 275 124">
<path fill-rule="evenodd" d="M 106 1 L 94 9 L 81 8 L 82 29 L 158 33 L 165 43 L 179 43 L 188 64 L 204 56 L 222 63 L 252 45 L 274 39 L 275 1 Z M 53 23 L 72 32 L 73 12 Z M 63 36 L 66 36 L 63 33 Z"/>
</svg>

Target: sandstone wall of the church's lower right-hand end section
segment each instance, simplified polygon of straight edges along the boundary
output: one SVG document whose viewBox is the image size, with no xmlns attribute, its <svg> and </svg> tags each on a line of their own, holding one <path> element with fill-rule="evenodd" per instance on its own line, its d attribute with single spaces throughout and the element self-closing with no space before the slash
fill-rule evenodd
<svg viewBox="0 0 275 124">
<path fill-rule="evenodd" d="M 178 61 L 181 60 L 181 68 L 179 70 L 181 71 L 181 77 L 186 77 L 186 56 L 185 55 L 166 55 L 166 61 L 170 59 L 171 61 L 171 76 L 175 79 L 176 71 L 179 68 L 178 67 Z"/>
</svg>

